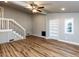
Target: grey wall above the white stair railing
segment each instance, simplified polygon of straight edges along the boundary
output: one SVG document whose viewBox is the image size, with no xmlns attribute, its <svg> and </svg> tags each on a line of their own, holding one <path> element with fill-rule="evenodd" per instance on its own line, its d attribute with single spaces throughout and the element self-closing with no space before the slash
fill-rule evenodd
<svg viewBox="0 0 79 59">
<path fill-rule="evenodd" d="M 26 29 L 27 33 L 32 34 L 32 16 L 30 14 L 7 6 L 3 6 L 3 8 L 5 18 L 14 19 Z"/>
</svg>

